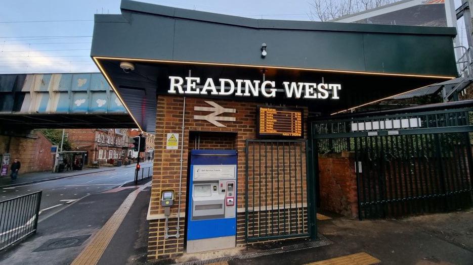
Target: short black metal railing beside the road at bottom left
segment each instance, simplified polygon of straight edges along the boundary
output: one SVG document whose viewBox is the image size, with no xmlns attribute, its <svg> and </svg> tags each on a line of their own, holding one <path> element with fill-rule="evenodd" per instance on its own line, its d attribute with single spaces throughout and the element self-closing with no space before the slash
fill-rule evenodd
<svg viewBox="0 0 473 265">
<path fill-rule="evenodd" d="M 36 233 L 42 191 L 0 201 L 0 250 Z"/>
</svg>

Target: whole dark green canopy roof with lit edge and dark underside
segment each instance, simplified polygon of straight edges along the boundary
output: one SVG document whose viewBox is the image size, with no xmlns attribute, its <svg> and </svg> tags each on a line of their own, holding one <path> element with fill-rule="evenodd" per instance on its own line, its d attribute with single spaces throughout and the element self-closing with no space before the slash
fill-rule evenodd
<svg viewBox="0 0 473 265">
<path fill-rule="evenodd" d="M 95 16 L 91 56 L 148 132 L 169 76 L 263 80 L 265 73 L 278 89 L 283 81 L 339 83 L 338 100 L 225 97 L 331 114 L 457 75 L 454 28 L 259 20 L 128 0 L 121 11 Z M 120 62 L 135 70 L 124 73 Z"/>
</svg>

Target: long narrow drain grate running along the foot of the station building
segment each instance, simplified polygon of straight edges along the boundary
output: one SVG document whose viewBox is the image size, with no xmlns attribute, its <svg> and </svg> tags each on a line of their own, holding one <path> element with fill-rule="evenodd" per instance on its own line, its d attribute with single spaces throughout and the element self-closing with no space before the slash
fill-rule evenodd
<svg viewBox="0 0 473 265">
<path fill-rule="evenodd" d="M 221 262 L 221 261 L 230 261 L 230 260 L 234 260 L 234 259 L 247 259 L 247 258 L 255 258 L 255 257 L 261 257 L 261 256 L 273 255 L 273 254 L 280 254 L 280 253 L 285 253 L 285 252 L 290 252 L 290 251 L 296 251 L 296 250 L 302 250 L 302 249 L 308 249 L 308 248 L 314 248 L 314 247 L 321 247 L 321 246 L 327 246 L 327 245 L 333 244 L 332 241 L 328 240 L 323 235 L 319 234 L 318 236 L 319 236 L 319 240 L 317 240 L 317 241 L 304 242 L 304 243 L 299 243 L 299 244 L 294 244 L 294 245 L 289 245 L 289 246 L 283 246 L 283 247 L 280 247 L 280 248 L 274 248 L 274 249 L 263 250 L 263 251 L 256 251 L 256 252 L 245 253 L 245 254 L 234 255 L 234 256 L 228 256 L 228 257 L 216 257 L 216 258 L 210 258 L 210 259 L 205 259 L 205 260 L 196 260 L 196 261 L 183 262 L 183 263 L 178 263 L 178 264 L 175 264 L 175 265 L 204 265 L 204 264 L 208 264 L 208 263 Z"/>
</svg>

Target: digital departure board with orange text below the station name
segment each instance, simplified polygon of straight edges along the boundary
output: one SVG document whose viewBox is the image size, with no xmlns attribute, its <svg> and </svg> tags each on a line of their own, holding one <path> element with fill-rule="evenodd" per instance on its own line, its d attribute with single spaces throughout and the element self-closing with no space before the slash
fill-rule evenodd
<svg viewBox="0 0 473 265">
<path fill-rule="evenodd" d="M 257 114 L 258 137 L 304 138 L 304 110 L 260 106 Z"/>
</svg>

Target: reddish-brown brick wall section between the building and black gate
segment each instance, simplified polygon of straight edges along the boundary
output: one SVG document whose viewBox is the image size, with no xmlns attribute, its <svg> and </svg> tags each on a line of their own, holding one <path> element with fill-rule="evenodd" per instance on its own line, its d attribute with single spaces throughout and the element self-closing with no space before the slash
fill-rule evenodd
<svg viewBox="0 0 473 265">
<path fill-rule="evenodd" d="M 319 154 L 320 208 L 357 217 L 358 197 L 352 153 Z"/>
</svg>

